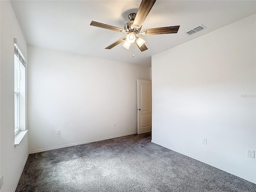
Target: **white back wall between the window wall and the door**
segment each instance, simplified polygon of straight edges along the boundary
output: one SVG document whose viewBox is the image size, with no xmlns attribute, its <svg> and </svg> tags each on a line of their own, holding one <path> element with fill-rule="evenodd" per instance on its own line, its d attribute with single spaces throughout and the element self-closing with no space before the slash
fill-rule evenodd
<svg viewBox="0 0 256 192">
<path fill-rule="evenodd" d="M 34 46 L 28 60 L 31 153 L 137 132 L 137 79 L 150 68 Z"/>
</svg>

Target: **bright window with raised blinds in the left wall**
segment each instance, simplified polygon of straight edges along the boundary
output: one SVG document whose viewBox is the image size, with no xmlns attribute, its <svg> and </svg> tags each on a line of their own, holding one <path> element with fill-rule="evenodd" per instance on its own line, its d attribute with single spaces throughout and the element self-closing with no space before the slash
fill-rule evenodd
<svg viewBox="0 0 256 192">
<path fill-rule="evenodd" d="M 25 130 L 25 64 L 26 60 L 14 39 L 14 134 Z"/>
</svg>

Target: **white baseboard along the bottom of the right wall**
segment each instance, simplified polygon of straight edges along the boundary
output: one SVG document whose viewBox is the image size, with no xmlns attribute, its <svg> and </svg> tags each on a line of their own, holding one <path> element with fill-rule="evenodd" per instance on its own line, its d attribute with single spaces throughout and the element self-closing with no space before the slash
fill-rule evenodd
<svg viewBox="0 0 256 192">
<path fill-rule="evenodd" d="M 171 147 L 169 147 L 169 146 L 166 146 L 165 144 L 156 142 L 156 141 L 154 141 L 154 140 L 151 140 L 151 142 L 154 143 L 154 144 L 158 144 L 158 145 L 160 145 L 160 146 L 163 146 L 163 147 L 165 147 L 165 148 L 168 148 L 168 149 L 170 149 L 170 150 L 173 150 L 173 151 L 175 151 L 175 152 L 178 152 L 178 153 L 180 153 L 180 154 L 186 155 L 186 156 L 191 157 L 191 158 L 193 158 L 193 159 L 196 159 L 196 160 L 198 160 L 198 161 L 200 161 L 200 162 L 206 163 L 206 164 L 208 164 L 208 165 L 210 165 L 210 166 L 213 166 L 213 167 L 218 168 L 218 169 L 220 169 L 220 170 L 222 170 L 222 171 L 225 171 L 225 172 L 227 172 L 227 173 L 230 173 L 230 174 L 232 174 L 232 175 L 238 176 L 238 177 L 240 177 L 240 178 L 242 178 L 242 179 L 245 179 L 245 180 L 247 180 L 247 181 L 250 181 L 250 182 L 256 184 L 256 179 L 254 179 L 254 178 L 248 177 L 248 176 L 246 176 L 246 175 L 244 175 L 244 174 L 241 174 L 241 173 L 239 173 L 239 172 L 233 171 L 233 170 L 231 170 L 231 169 L 229 169 L 229 168 L 226 168 L 226 167 L 220 166 L 220 165 L 218 165 L 218 164 L 215 164 L 215 163 L 206 161 L 206 160 L 204 160 L 204 159 L 198 158 L 198 157 L 196 157 L 196 156 L 193 156 L 193 155 L 191 155 L 191 154 L 182 152 L 182 151 L 180 151 L 180 150 L 176 150 L 176 149 L 174 149 L 174 148 L 171 148 Z"/>
</svg>

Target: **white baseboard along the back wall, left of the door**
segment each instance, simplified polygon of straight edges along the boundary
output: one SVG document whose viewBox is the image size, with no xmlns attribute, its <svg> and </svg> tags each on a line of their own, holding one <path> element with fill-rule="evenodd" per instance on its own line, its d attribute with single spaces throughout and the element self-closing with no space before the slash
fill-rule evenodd
<svg viewBox="0 0 256 192">
<path fill-rule="evenodd" d="M 71 146 L 76 146 L 76 145 L 81 145 L 81 144 L 86 144 L 86 143 L 92 143 L 92 142 L 96 142 L 96 141 L 102 141 L 102 140 L 107 140 L 107 139 L 112 139 L 112 138 L 117 138 L 117 137 L 122 137 L 122 136 L 127 136 L 127 135 L 133 135 L 133 134 L 136 134 L 136 133 L 137 132 L 132 132 L 132 133 L 121 134 L 121 135 L 110 136 L 110 137 L 104 137 L 104 138 L 99 138 L 99 139 L 94 139 L 94 140 L 88 140 L 88 141 L 82 141 L 82 142 L 77 142 L 77 143 L 55 146 L 55 147 L 43 148 L 43 149 L 33 150 L 33 151 L 28 152 L 28 153 L 29 154 L 39 153 L 39 152 L 43 152 L 43 151 L 49 151 L 49 150 L 60 149 L 60 148 L 64 148 L 64 147 L 71 147 Z"/>
</svg>

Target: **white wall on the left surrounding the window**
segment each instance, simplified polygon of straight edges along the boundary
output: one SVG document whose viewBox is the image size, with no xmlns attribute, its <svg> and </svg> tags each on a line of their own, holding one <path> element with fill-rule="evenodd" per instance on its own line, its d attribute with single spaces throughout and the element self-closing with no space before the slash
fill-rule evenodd
<svg viewBox="0 0 256 192">
<path fill-rule="evenodd" d="M 0 1 L 0 175 L 1 192 L 15 190 L 28 157 L 28 135 L 14 148 L 14 41 L 17 38 L 24 56 L 27 44 L 9 1 Z"/>
</svg>

